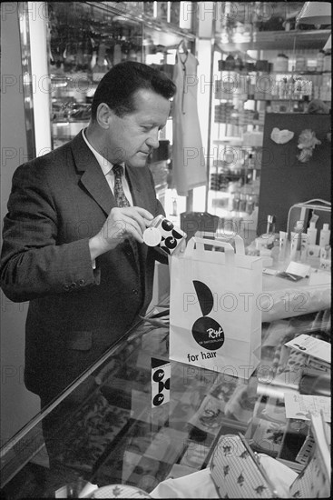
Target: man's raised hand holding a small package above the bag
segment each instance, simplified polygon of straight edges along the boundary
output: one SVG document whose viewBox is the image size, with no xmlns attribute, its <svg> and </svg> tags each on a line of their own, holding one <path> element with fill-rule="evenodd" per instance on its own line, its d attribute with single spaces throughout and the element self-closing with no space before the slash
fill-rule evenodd
<svg viewBox="0 0 333 500">
<path fill-rule="evenodd" d="M 141 206 L 114 207 L 101 231 L 89 240 L 92 260 L 113 250 L 126 238 L 132 237 L 143 243 L 142 234 L 151 224 L 153 215 Z"/>
</svg>

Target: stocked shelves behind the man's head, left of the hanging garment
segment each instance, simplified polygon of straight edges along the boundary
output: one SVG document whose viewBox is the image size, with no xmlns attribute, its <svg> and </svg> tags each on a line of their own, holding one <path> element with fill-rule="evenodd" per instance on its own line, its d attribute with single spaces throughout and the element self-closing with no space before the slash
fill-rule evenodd
<svg viewBox="0 0 333 500">
<path fill-rule="evenodd" d="M 180 5 L 158 2 L 49 2 L 49 71 L 52 143 L 68 142 L 86 126 L 94 91 L 103 75 L 124 60 L 143 62 L 172 77 L 177 46 L 194 51 L 195 35 L 180 27 Z M 172 5 L 172 9 L 170 8 Z M 177 4 L 177 5 L 176 5 Z M 155 15 L 155 16 L 154 16 Z M 171 117 L 161 140 L 172 143 Z M 165 145 L 164 145 L 165 146 Z M 157 195 L 164 205 L 169 155 L 149 158 Z"/>
</svg>

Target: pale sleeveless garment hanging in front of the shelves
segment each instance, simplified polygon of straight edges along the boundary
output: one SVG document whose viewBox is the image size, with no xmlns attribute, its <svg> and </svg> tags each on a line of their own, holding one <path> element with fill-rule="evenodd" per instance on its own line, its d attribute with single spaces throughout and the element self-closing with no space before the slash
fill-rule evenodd
<svg viewBox="0 0 333 500">
<path fill-rule="evenodd" d="M 207 183 L 197 108 L 197 65 L 190 52 L 177 51 L 173 71 L 177 92 L 172 108 L 172 182 L 182 196 Z"/>
</svg>

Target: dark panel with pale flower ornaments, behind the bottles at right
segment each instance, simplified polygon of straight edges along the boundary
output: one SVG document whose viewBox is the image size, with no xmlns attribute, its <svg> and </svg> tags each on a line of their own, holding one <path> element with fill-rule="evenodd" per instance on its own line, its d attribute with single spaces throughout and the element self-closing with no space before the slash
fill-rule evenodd
<svg viewBox="0 0 333 500">
<path fill-rule="evenodd" d="M 273 128 L 289 130 L 294 136 L 287 144 L 276 144 L 270 137 Z M 311 130 L 320 140 L 306 163 L 299 162 L 299 135 Z M 287 228 L 291 205 L 314 198 L 331 201 L 331 116 L 295 113 L 266 115 L 260 176 L 258 234 L 265 232 L 267 215 L 275 215 L 276 231 Z M 329 223 L 330 214 L 318 213 L 318 229 Z M 296 215 L 297 216 L 297 215 Z M 290 221 L 290 229 L 295 225 Z"/>
</svg>

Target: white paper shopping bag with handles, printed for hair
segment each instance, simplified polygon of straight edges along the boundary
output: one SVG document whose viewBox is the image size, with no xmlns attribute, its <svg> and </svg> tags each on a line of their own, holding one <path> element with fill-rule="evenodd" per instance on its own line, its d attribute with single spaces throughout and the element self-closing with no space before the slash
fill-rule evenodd
<svg viewBox="0 0 333 500">
<path fill-rule="evenodd" d="M 197 237 L 171 257 L 171 359 L 250 378 L 260 363 L 261 262 Z"/>
</svg>

